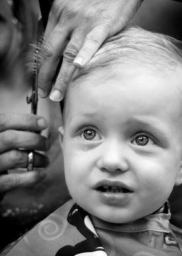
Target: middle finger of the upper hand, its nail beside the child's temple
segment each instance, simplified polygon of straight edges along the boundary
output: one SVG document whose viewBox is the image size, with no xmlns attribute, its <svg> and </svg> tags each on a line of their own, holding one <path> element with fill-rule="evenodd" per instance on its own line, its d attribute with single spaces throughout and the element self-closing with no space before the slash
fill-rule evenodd
<svg viewBox="0 0 182 256">
<path fill-rule="evenodd" d="M 64 98 L 66 87 L 72 78 L 72 74 L 75 70 L 73 66 L 73 60 L 77 56 L 82 44 L 84 42 L 84 32 L 74 31 L 72 33 L 72 38 L 66 50 L 64 51 L 63 63 L 61 65 L 61 70 L 57 76 L 56 83 L 50 94 L 50 99 L 53 101 L 61 101 Z"/>
</svg>

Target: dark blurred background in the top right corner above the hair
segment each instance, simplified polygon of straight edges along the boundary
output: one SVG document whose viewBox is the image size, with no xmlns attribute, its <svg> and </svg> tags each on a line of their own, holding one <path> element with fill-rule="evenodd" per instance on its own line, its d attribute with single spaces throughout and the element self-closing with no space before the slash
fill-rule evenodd
<svg viewBox="0 0 182 256">
<path fill-rule="evenodd" d="M 144 0 L 132 22 L 138 26 L 181 39 L 182 3 L 171 0 Z"/>
</svg>

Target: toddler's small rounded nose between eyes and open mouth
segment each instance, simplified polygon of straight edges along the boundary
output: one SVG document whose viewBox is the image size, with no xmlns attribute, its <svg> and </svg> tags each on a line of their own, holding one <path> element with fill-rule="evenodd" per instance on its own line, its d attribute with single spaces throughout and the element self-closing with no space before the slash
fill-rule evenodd
<svg viewBox="0 0 182 256">
<path fill-rule="evenodd" d="M 129 168 L 126 155 L 126 148 L 118 145 L 118 143 L 108 143 L 98 157 L 97 166 L 102 171 L 126 172 Z"/>
</svg>

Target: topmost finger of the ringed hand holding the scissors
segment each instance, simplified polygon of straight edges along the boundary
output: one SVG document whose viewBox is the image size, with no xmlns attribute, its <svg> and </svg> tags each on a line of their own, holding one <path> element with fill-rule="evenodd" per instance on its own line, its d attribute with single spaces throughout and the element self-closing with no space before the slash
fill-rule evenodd
<svg viewBox="0 0 182 256">
<path fill-rule="evenodd" d="M 0 114 L 0 132 L 7 129 L 42 131 L 47 126 L 47 121 L 42 116 L 16 113 Z"/>
</svg>

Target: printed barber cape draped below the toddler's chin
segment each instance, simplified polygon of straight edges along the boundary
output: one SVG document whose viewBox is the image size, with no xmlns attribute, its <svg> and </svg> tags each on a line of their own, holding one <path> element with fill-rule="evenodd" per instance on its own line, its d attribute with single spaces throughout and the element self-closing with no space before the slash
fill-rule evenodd
<svg viewBox="0 0 182 256">
<path fill-rule="evenodd" d="M 8 256 L 178 256 L 167 204 L 154 214 L 128 224 L 107 223 L 89 216 L 73 200 L 62 205 L 22 237 Z M 180 234 L 181 233 L 181 234 Z M 182 243 L 181 243 L 182 244 Z"/>
</svg>

